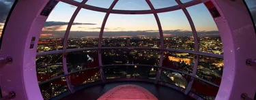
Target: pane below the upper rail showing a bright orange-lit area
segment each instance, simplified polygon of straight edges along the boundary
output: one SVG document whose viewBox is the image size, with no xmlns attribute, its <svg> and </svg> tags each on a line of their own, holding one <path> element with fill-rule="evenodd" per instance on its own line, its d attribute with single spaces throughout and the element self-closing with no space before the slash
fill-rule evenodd
<svg viewBox="0 0 256 100">
<path fill-rule="evenodd" d="M 194 63 L 195 56 L 193 54 L 182 52 L 164 52 L 162 66 L 183 71 L 185 73 L 193 73 Z"/>
</svg>

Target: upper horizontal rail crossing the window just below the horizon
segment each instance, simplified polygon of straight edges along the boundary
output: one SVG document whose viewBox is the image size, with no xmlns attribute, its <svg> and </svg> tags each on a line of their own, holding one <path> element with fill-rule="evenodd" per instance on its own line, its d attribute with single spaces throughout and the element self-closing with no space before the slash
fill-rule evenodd
<svg viewBox="0 0 256 100">
<path fill-rule="evenodd" d="M 171 49 L 171 48 L 148 48 L 148 47 L 96 47 L 96 48 L 74 48 L 67 49 L 66 52 L 63 50 L 55 50 L 49 52 L 38 52 L 36 56 L 46 56 L 50 54 L 64 54 L 69 52 L 81 52 L 85 50 L 160 50 L 160 51 L 168 51 L 168 52 L 185 52 L 189 54 L 196 54 L 201 56 L 210 56 L 218 59 L 223 59 L 223 54 L 213 54 L 208 52 L 196 52 L 192 50 L 180 50 L 180 49 Z"/>
</svg>

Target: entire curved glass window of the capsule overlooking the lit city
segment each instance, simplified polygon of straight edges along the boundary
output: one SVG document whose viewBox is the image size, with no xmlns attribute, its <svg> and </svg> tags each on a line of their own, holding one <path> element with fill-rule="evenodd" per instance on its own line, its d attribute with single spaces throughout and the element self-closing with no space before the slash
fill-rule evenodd
<svg viewBox="0 0 256 100">
<path fill-rule="evenodd" d="M 150 1 L 155 9 L 177 5 L 174 0 Z M 189 1 L 192 0 L 182 0 L 182 3 Z M 86 4 L 109 9 L 112 3 L 113 0 L 89 0 Z M 38 52 L 62 50 L 64 33 L 76 8 L 63 2 L 56 6 L 40 35 Z M 150 10 L 150 7 L 145 0 L 119 0 L 114 9 Z M 76 91 L 90 85 L 90 82 L 111 82 L 113 78 L 139 78 L 154 82 L 157 75 L 160 76 L 159 84 L 167 84 L 182 92 L 194 80 L 190 93 L 214 99 L 221 84 L 223 59 L 207 56 L 208 53 L 204 52 L 223 54 L 221 38 L 203 3 L 186 9 L 195 23 L 198 37 L 193 36 L 188 18 L 182 10 L 158 13 L 164 35 L 162 49 L 154 14 L 109 14 L 101 35 L 106 13 L 82 8 L 70 29 L 68 50 L 56 51 L 57 54 L 50 52 L 36 58 L 38 82 L 44 99 L 68 93 L 68 86 Z M 199 51 L 193 51 L 194 38 L 199 39 Z M 63 75 L 63 66 L 68 69 L 65 78 L 59 76 Z M 161 73 L 159 68 L 162 69 Z M 59 76 L 57 80 L 48 82 L 49 79 L 56 79 L 56 76 Z M 198 86 L 213 90 L 207 93 Z"/>
</svg>

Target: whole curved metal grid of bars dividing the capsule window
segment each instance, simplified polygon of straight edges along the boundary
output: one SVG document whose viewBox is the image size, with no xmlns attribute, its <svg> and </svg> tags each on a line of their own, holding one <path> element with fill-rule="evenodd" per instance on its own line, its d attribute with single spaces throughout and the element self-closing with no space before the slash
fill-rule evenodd
<svg viewBox="0 0 256 100">
<path fill-rule="evenodd" d="M 203 82 L 207 82 L 208 84 L 212 84 L 214 86 L 219 87 L 218 85 L 216 85 L 212 82 L 208 82 L 207 80 L 203 80 L 203 79 L 198 78 L 196 76 L 197 66 L 198 66 L 198 63 L 199 63 L 199 55 L 210 56 L 210 57 L 214 57 L 214 58 L 218 58 L 218 59 L 223 59 L 223 54 L 213 54 L 213 53 L 200 52 L 199 51 L 199 41 L 198 41 L 198 37 L 197 37 L 197 31 L 195 29 L 195 24 L 194 24 L 194 22 L 193 22 L 193 20 L 190 16 L 190 14 L 188 13 L 188 10 L 186 10 L 186 7 L 190 7 L 190 6 L 202 3 L 201 0 L 194 0 L 194 1 L 189 1 L 189 2 L 186 2 L 186 3 L 182 3 L 180 0 L 175 0 L 178 5 L 171 6 L 171 7 L 160 8 L 160 9 L 155 9 L 154 5 L 152 5 L 150 0 L 145 0 L 147 2 L 147 5 L 149 5 L 150 10 L 113 10 L 113 7 L 115 7 L 115 4 L 119 0 L 114 0 L 113 3 L 111 4 L 111 6 L 109 7 L 109 9 L 102 8 L 102 7 L 96 7 L 96 6 L 92 6 L 92 5 L 87 5 L 87 4 L 85 4 L 87 1 L 88 0 L 83 0 L 81 3 L 79 3 L 78 1 L 62 0 L 62 2 L 64 2 L 64 3 L 68 3 L 70 5 L 74 5 L 74 6 L 77 7 L 74 14 L 72 15 L 72 18 L 70 18 L 70 22 L 68 23 L 68 27 L 66 29 L 66 33 L 65 33 L 65 36 L 64 36 L 64 39 L 63 39 L 63 50 L 50 51 L 50 52 L 38 52 L 36 56 L 45 56 L 45 55 L 49 55 L 49 54 L 62 54 L 64 75 L 57 76 L 55 78 L 52 78 L 50 80 L 46 80 L 44 82 L 40 82 L 39 84 L 44 84 L 46 82 L 51 82 L 51 81 L 56 80 L 58 78 L 65 77 L 66 80 L 67 80 L 68 89 L 70 90 L 70 93 L 74 93 L 76 91 L 76 90 L 74 90 L 74 87 L 72 86 L 68 76 L 73 74 L 73 73 L 77 73 L 77 72 L 80 72 L 80 71 L 85 71 L 85 70 L 88 70 L 88 69 L 82 69 L 82 70 L 79 70 L 79 71 L 74 71 L 74 72 L 68 73 L 68 68 L 67 68 L 67 63 L 66 63 L 66 55 L 69 52 L 79 52 L 79 51 L 84 51 L 84 50 L 98 50 L 99 67 L 94 67 L 94 68 L 91 68 L 91 69 L 99 68 L 102 83 L 106 83 L 106 78 L 104 76 L 103 67 L 108 67 L 108 66 L 113 66 L 113 65 L 102 65 L 102 54 L 101 54 L 102 50 L 159 50 L 161 52 L 159 66 L 139 65 L 139 66 L 147 66 L 147 67 L 156 67 L 156 68 L 158 68 L 158 73 L 156 73 L 156 80 L 154 80 L 154 84 L 158 84 L 158 81 L 160 79 L 160 74 L 162 73 L 162 69 L 167 69 L 167 70 L 183 73 L 183 74 L 186 74 L 186 75 L 191 77 L 191 80 L 190 80 L 190 82 L 189 82 L 189 84 L 188 84 L 188 86 L 187 86 L 187 88 L 184 92 L 184 94 L 186 94 L 186 95 L 188 95 L 188 93 L 190 92 L 190 88 L 193 85 L 193 82 L 194 82 L 195 78 L 198 79 L 198 80 L 201 80 Z M 93 10 L 93 11 L 96 11 L 96 12 L 105 12 L 106 13 L 105 16 L 104 16 L 104 20 L 102 21 L 102 26 L 101 26 L 101 29 L 100 29 L 98 47 L 96 47 L 96 48 L 67 49 L 68 36 L 70 34 L 70 29 L 72 27 L 72 24 L 73 24 L 76 16 L 79 14 L 79 12 L 81 11 L 82 8 L 86 9 L 86 10 Z M 174 10 L 182 10 L 184 12 L 184 14 L 186 15 L 186 18 L 188 19 L 188 22 L 190 24 L 190 28 L 193 31 L 194 51 L 192 51 L 192 50 L 169 49 L 169 48 L 164 47 L 164 36 L 163 36 L 163 31 L 162 31 L 162 26 L 161 26 L 161 23 L 160 23 L 160 19 L 158 17 L 158 13 L 171 12 L 171 11 L 174 11 Z M 109 18 L 110 14 L 154 14 L 154 17 L 155 17 L 156 22 L 158 24 L 158 30 L 159 30 L 159 34 L 160 34 L 160 48 L 102 47 L 102 37 L 103 37 L 103 33 L 104 33 L 104 27 L 106 25 L 106 21 Z M 169 51 L 169 52 L 186 52 L 186 53 L 189 53 L 189 54 L 195 54 L 195 63 L 194 63 L 194 66 L 193 66 L 193 73 L 188 74 L 188 73 L 184 73 L 182 71 L 177 71 L 177 70 L 170 69 L 170 68 L 167 68 L 167 67 L 162 67 L 164 52 L 167 52 L 167 51 Z M 130 66 L 129 64 L 122 64 L 122 65 Z M 119 65 L 115 65 L 115 66 L 119 66 Z"/>
</svg>

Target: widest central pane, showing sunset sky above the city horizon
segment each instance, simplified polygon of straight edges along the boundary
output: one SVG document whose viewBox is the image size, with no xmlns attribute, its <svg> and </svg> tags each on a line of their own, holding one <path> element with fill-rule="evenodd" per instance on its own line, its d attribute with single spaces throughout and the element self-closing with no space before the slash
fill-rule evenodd
<svg viewBox="0 0 256 100">
<path fill-rule="evenodd" d="M 153 14 L 110 14 L 103 33 L 102 46 L 160 47 L 160 37 Z"/>
</svg>

